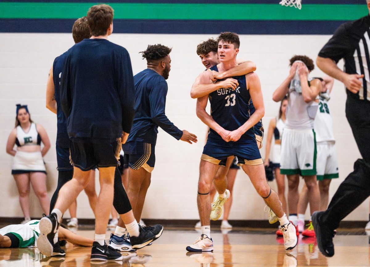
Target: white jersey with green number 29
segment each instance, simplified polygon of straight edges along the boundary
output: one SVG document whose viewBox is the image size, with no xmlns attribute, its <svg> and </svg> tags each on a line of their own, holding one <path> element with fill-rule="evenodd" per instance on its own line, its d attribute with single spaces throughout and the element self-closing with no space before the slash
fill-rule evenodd
<svg viewBox="0 0 370 267">
<path fill-rule="evenodd" d="M 335 141 L 333 131 L 333 118 L 330 115 L 329 105 L 326 98 L 320 97 L 319 109 L 317 110 L 314 129 L 316 142 Z"/>
</svg>

